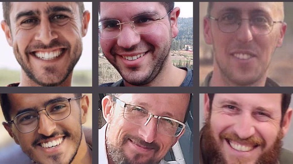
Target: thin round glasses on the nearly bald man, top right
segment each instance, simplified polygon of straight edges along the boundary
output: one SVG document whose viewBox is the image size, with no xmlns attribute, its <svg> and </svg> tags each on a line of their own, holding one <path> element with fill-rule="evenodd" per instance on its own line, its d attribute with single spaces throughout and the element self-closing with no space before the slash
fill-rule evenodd
<svg viewBox="0 0 293 164">
<path fill-rule="evenodd" d="M 237 14 L 223 14 L 219 16 L 219 18 L 214 18 L 212 16 L 208 18 L 217 21 L 219 29 L 224 33 L 236 32 L 243 20 L 248 20 L 253 34 L 259 35 L 266 35 L 272 32 L 275 23 L 283 23 L 283 21 L 273 21 L 271 18 L 263 15 L 255 15 L 250 19 L 243 19 Z"/>
</svg>

